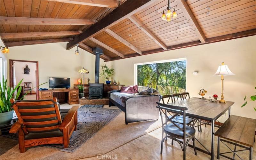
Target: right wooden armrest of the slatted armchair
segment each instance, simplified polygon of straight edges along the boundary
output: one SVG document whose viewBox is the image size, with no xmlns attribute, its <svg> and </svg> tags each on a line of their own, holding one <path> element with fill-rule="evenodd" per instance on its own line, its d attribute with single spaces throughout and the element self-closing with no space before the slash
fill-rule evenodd
<svg viewBox="0 0 256 160">
<path fill-rule="evenodd" d="M 63 121 L 60 125 L 60 129 L 67 128 L 68 125 L 72 122 L 73 119 L 76 119 L 76 123 L 77 123 L 77 117 L 74 118 L 74 116 L 77 116 L 77 109 L 78 108 L 79 108 L 79 106 L 73 106 L 71 109 L 69 109 L 67 115 L 65 116 L 65 118 L 63 119 Z"/>
</svg>

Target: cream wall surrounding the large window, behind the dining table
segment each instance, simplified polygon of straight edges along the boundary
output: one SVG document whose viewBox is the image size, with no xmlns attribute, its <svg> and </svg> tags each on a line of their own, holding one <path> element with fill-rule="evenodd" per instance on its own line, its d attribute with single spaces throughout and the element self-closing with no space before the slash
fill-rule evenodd
<svg viewBox="0 0 256 160">
<path fill-rule="evenodd" d="M 231 114 L 256 118 L 256 112 L 253 109 L 256 102 L 248 102 L 247 106 L 241 108 L 244 96 L 249 97 L 255 94 L 256 36 L 110 61 L 106 64 L 115 68 L 114 79 L 117 82 L 132 85 L 135 63 L 178 58 L 187 58 L 187 92 L 191 97 L 199 97 L 197 93 L 201 88 L 208 91 L 205 97 L 213 94 L 221 96 L 220 76 L 213 76 L 213 74 L 221 62 L 225 62 L 236 74 L 224 77 L 225 100 L 235 102 L 231 107 Z M 198 75 L 193 75 L 192 73 L 196 70 L 199 71 Z M 225 118 L 223 117 L 223 120 Z"/>
</svg>

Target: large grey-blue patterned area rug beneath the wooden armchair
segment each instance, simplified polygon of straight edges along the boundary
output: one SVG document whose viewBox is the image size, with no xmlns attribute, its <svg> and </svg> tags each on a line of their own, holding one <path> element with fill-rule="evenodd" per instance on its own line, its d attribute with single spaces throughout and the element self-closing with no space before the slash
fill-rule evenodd
<svg viewBox="0 0 256 160">
<path fill-rule="evenodd" d="M 91 105 L 94 106 L 94 105 Z M 92 138 L 100 129 L 111 122 L 118 114 L 122 112 L 119 109 L 108 108 L 78 108 L 77 130 L 74 131 L 70 138 L 68 148 L 63 145 L 42 145 L 47 148 L 57 149 L 64 152 L 73 153 L 82 146 L 87 140 Z M 18 140 L 18 134 L 3 135 Z"/>
</svg>

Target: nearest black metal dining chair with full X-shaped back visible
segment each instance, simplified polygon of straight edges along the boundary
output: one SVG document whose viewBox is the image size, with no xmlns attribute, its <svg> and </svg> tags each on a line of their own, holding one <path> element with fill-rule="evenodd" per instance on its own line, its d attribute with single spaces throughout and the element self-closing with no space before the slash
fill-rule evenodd
<svg viewBox="0 0 256 160">
<path fill-rule="evenodd" d="M 186 125 L 185 123 L 180 124 L 179 122 L 173 122 L 173 119 L 178 116 L 179 114 L 183 115 L 183 122 L 185 121 L 186 118 L 186 110 L 188 108 L 186 107 L 178 107 L 178 106 L 171 106 L 163 103 L 156 102 L 159 108 L 160 116 L 161 116 L 161 121 L 162 121 L 162 139 L 161 139 L 161 151 L 160 154 L 162 155 L 163 153 L 163 143 L 164 140 L 168 137 L 171 138 L 172 140 L 177 141 L 180 144 L 181 150 L 183 151 L 183 160 L 186 159 L 186 148 L 188 147 L 189 140 L 193 141 L 193 147 L 196 153 L 196 144 L 195 144 L 195 133 L 196 130 L 193 127 L 190 127 Z M 165 110 L 174 110 L 174 114 L 169 117 Z M 168 121 L 163 120 L 163 114 L 165 118 L 168 119 Z M 164 137 L 165 134 L 165 137 Z M 178 140 L 179 139 L 179 140 Z M 183 141 L 180 141 L 183 140 Z M 183 144 L 183 145 L 182 145 Z M 173 141 L 172 141 L 173 145 Z"/>
</svg>

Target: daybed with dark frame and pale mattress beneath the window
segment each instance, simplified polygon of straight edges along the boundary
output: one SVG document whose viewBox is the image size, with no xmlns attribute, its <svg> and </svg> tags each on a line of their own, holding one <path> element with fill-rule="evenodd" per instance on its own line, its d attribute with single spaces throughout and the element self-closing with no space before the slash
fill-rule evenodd
<svg viewBox="0 0 256 160">
<path fill-rule="evenodd" d="M 138 87 L 141 90 L 148 87 Z M 121 97 L 126 97 L 122 100 Z M 159 102 L 159 95 L 134 95 L 129 93 L 120 93 L 120 90 L 113 90 L 108 93 L 109 107 L 117 106 L 125 113 L 125 124 L 147 120 L 158 120 L 159 110 L 156 108 L 156 102 Z"/>
</svg>

